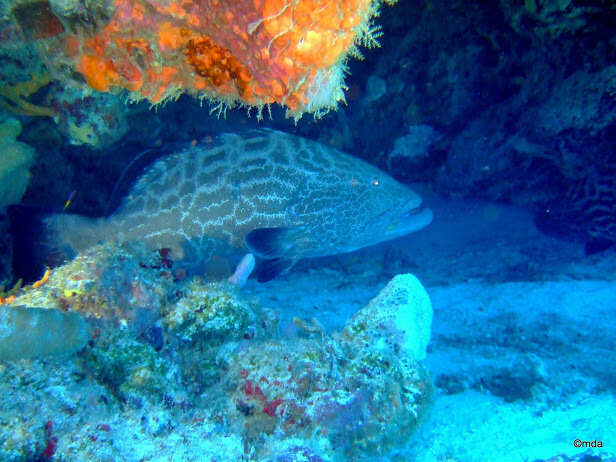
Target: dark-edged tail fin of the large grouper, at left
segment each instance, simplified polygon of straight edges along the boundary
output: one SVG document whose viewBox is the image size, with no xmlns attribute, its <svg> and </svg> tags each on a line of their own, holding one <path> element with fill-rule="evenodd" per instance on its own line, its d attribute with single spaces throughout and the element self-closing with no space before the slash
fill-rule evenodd
<svg viewBox="0 0 616 462">
<path fill-rule="evenodd" d="M 96 244 L 100 219 L 49 214 L 29 206 L 8 208 L 13 240 L 13 274 L 24 282 L 41 277 L 46 267 L 61 265 Z"/>
</svg>

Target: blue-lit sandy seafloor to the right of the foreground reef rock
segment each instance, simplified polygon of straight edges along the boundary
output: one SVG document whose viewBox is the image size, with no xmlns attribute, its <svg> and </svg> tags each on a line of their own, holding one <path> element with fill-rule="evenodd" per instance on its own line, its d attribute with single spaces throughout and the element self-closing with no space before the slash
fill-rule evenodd
<svg viewBox="0 0 616 462">
<path fill-rule="evenodd" d="M 513 207 L 428 202 L 425 230 L 246 291 L 279 306 L 292 335 L 292 316 L 339 329 L 392 275 L 419 277 L 437 395 L 408 446 L 379 460 L 616 461 L 616 251 L 585 256 Z"/>
</svg>

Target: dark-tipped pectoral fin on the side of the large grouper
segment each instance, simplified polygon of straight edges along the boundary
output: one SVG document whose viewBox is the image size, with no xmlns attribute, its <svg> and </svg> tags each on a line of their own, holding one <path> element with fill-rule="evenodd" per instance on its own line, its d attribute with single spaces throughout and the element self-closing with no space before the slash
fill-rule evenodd
<svg viewBox="0 0 616 462">
<path fill-rule="evenodd" d="M 306 233 L 301 227 L 257 228 L 244 236 L 248 250 L 266 259 L 301 255 L 299 247 L 303 242 L 306 242 Z"/>
</svg>

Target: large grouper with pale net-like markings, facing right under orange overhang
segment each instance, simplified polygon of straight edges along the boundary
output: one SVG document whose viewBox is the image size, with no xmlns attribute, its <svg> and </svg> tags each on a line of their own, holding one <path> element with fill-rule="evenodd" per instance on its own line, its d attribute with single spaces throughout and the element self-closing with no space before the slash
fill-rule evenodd
<svg viewBox="0 0 616 462">
<path fill-rule="evenodd" d="M 109 218 L 55 215 L 75 251 L 99 241 L 170 248 L 174 259 L 252 252 L 278 270 L 428 225 L 421 198 L 372 165 L 315 141 L 259 130 L 157 161 Z"/>
</svg>

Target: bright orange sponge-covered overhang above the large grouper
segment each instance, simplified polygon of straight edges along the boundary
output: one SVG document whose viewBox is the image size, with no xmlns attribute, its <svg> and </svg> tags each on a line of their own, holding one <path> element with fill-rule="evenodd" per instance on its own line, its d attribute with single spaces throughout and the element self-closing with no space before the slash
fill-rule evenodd
<svg viewBox="0 0 616 462">
<path fill-rule="evenodd" d="M 395 2 L 114 0 L 104 27 L 67 37 L 66 54 L 98 91 L 125 88 L 154 103 L 187 92 L 319 115 L 344 99 L 348 55 L 376 43 L 382 1 Z"/>
</svg>

